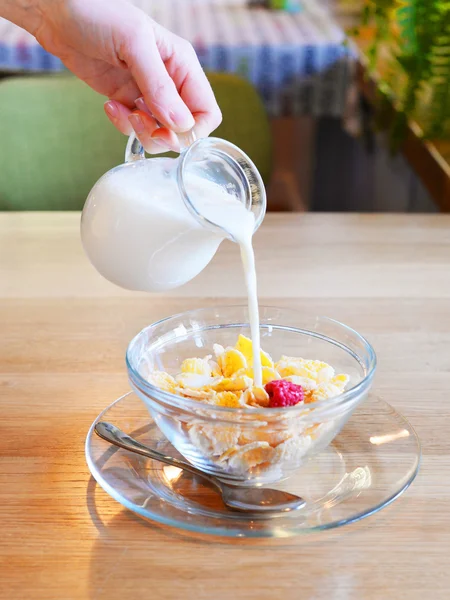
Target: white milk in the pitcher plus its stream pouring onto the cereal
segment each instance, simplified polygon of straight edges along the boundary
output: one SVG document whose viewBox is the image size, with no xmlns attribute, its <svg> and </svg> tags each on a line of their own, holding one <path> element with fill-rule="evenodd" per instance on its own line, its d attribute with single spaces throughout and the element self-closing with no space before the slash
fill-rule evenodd
<svg viewBox="0 0 450 600">
<path fill-rule="evenodd" d="M 117 285 L 149 292 L 181 286 L 206 267 L 226 237 L 191 215 L 180 197 L 172 164 L 170 159 L 152 159 L 113 169 L 96 183 L 86 201 L 81 227 L 85 251 L 97 270 Z M 254 215 L 213 181 L 191 174 L 185 182 L 196 210 L 240 246 L 254 380 L 261 386 Z"/>
</svg>

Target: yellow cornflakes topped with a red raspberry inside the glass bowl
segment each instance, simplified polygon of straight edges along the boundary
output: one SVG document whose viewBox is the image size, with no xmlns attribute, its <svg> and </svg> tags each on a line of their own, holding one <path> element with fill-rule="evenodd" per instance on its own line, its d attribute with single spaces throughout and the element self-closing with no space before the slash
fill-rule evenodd
<svg viewBox="0 0 450 600">
<path fill-rule="evenodd" d="M 329 436 L 333 421 L 298 418 L 298 411 L 292 413 L 290 408 L 304 406 L 301 416 L 305 417 L 311 413 L 308 405 L 342 394 L 348 375 L 336 374 L 332 366 L 320 360 L 282 356 L 274 362 L 261 351 L 263 386 L 256 387 L 249 338 L 240 335 L 236 345 L 229 348 L 215 344 L 213 352 L 204 358 L 184 360 L 175 376 L 153 371 L 149 382 L 198 401 L 199 408 L 203 404 L 229 409 L 278 409 L 273 419 L 255 412 L 260 426 L 255 426 L 255 420 L 249 426 L 239 412 L 229 413 L 226 424 L 216 424 L 202 419 L 201 411 L 197 420 L 183 424 L 195 450 L 220 471 L 243 476 L 259 476 L 276 469 L 282 473 L 286 465 L 298 466 L 316 443 Z"/>
</svg>

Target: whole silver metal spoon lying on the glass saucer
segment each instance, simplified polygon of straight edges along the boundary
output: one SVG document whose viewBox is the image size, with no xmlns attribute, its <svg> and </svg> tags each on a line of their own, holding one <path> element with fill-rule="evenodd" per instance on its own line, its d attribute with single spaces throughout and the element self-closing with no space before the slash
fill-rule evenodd
<svg viewBox="0 0 450 600">
<path fill-rule="evenodd" d="M 110 444 L 114 444 L 115 446 L 119 446 L 130 452 L 141 454 L 147 458 L 158 460 L 167 465 L 178 467 L 179 469 L 189 471 L 189 473 L 202 477 L 214 485 L 220 492 L 224 504 L 232 510 L 269 517 L 276 516 L 276 514 L 279 513 L 298 510 L 299 508 L 303 508 L 306 504 L 303 498 L 290 494 L 289 492 L 282 492 L 281 490 L 263 487 L 238 487 L 220 481 L 211 475 L 203 473 L 203 471 L 200 471 L 200 469 L 197 469 L 187 462 L 172 456 L 166 456 L 148 446 L 144 446 L 144 444 L 133 439 L 111 423 L 106 423 L 105 421 L 97 423 L 95 425 L 95 433 Z M 238 478 L 235 479 L 236 481 L 239 481 Z M 243 480 L 241 479 L 240 481 Z"/>
</svg>

